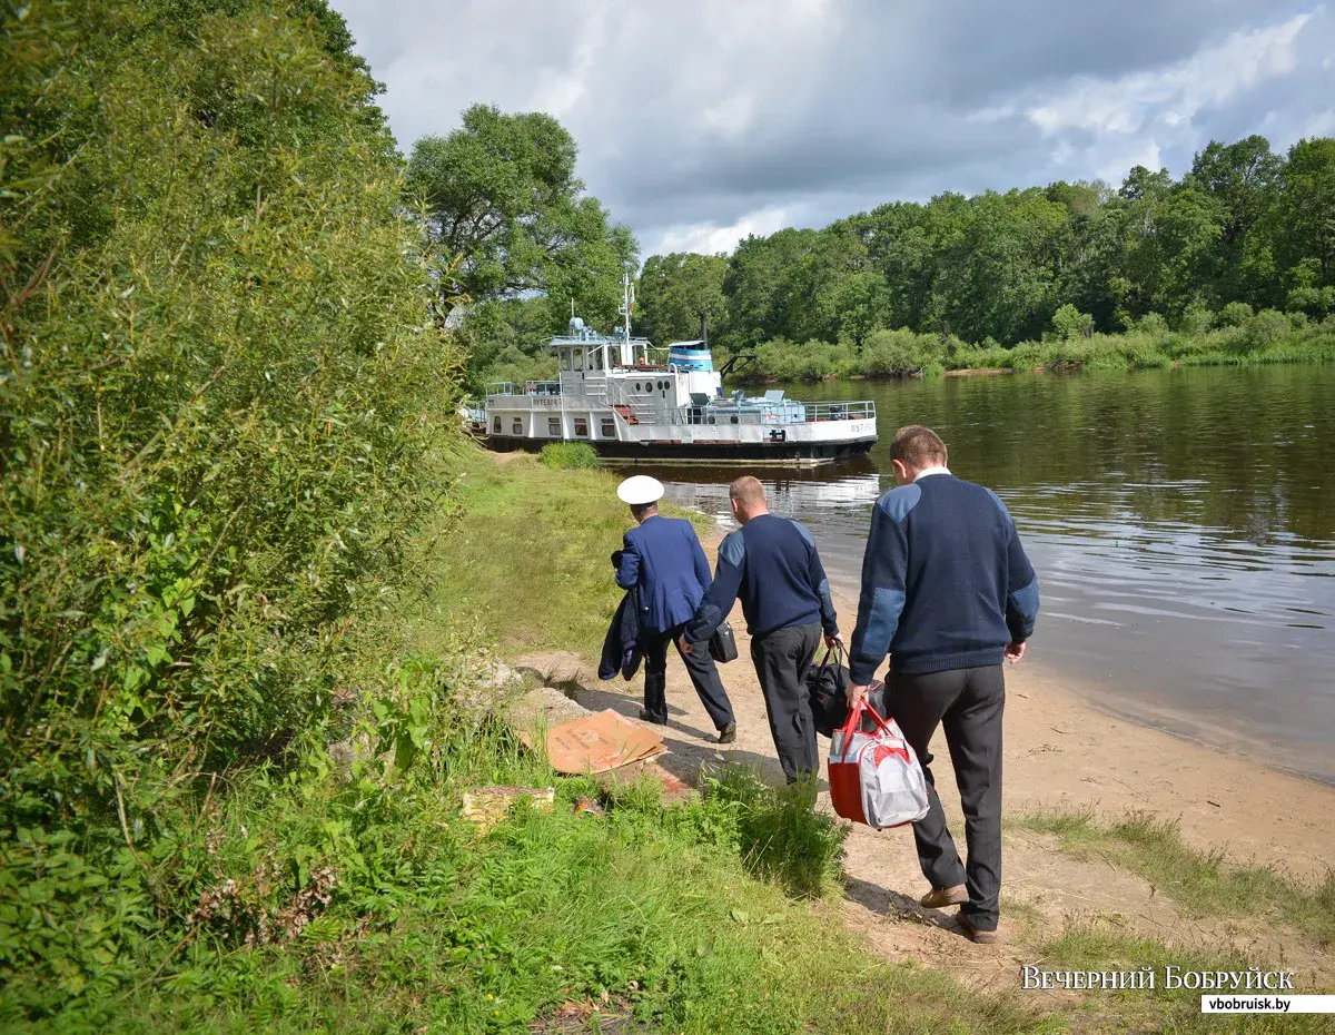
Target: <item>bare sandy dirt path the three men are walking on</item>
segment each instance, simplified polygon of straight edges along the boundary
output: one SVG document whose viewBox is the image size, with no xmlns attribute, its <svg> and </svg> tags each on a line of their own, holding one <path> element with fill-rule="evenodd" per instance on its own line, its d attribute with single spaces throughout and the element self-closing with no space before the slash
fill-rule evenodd
<svg viewBox="0 0 1335 1035">
<path fill-rule="evenodd" d="M 836 606 L 850 630 L 856 604 L 837 588 Z M 669 753 L 659 761 L 686 783 L 700 767 L 732 760 L 757 767 L 774 783 L 782 772 L 765 718 L 756 673 L 749 664 L 749 637 L 741 609 L 732 616 L 740 657 L 724 666 L 737 713 L 737 743 L 712 743 L 713 727 L 680 661 L 669 662 Z M 1335 789 L 1267 769 L 1212 748 L 1104 714 L 1041 668 L 1041 632 L 1032 661 L 1007 670 L 1005 811 L 1040 808 L 1093 809 L 1120 817 L 1140 809 L 1179 820 L 1184 837 L 1200 848 L 1222 848 L 1236 863 L 1264 863 L 1299 877 L 1324 875 L 1335 861 Z M 565 681 L 567 693 L 586 708 L 613 708 L 634 718 L 642 686 L 637 680 L 599 682 L 595 666 L 574 654 L 537 654 L 519 664 Z M 818 741 L 824 753 L 828 741 Z M 953 772 L 941 736 L 933 743 L 937 785 L 951 828 L 963 847 L 964 824 L 953 791 Z M 824 763 L 822 763 L 824 779 Z M 828 793 L 821 803 L 829 807 Z M 842 909 L 846 921 L 865 932 L 886 958 L 914 958 L 947 970 L 976 987 L 1008 988 L 1020 968 L 1036 960 L 1036 947 L 1057 938 L 1072 920 L 1104 920 L 1179 947 L 1219 951 L 1234 946 L 1254 959 L 1292 967 L 1312 987 L 1328 986 L 1335 974 L 1330 956 L 1304 948 L 1283 929 L 1255 921 L 1199 919 L 1184 915 L 1147 881 L 1108 861 L 1081 861 L 1056 851 L 1056 839 L 1012 827 L 1004 833 L 1003 944 L 967 942 L 947 912 L 917 904 L 928 885 L 906 829 L 874 832 L 853 827 L 846 843 L 848 877 Z"/>
</svg>

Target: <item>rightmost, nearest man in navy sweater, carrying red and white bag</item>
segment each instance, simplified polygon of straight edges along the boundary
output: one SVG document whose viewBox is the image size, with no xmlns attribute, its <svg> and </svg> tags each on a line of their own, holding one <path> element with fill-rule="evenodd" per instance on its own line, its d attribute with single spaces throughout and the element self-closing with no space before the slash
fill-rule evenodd
<svg viewBox="0 0 1335 1035">
<path fill-rule="evenodd" d="M 890 443 L 901 482 L 872 509 L 862 558 L 849 701 L 890 654 L 886 708 L 926 775 L 930 809 L 913 824 L 930 908 L 960 905 L 975 942 L 996 942 L 1001 892 L 1003 658 L 1024 657 L 1039 617 L 1039 582 L 1015 522 L 991 489 L 947 469 L 934 431 L 901 427 Z M 955 763 L 968 867 L 960 863 L 932 780 L 937 725 Z"/>
</svg>

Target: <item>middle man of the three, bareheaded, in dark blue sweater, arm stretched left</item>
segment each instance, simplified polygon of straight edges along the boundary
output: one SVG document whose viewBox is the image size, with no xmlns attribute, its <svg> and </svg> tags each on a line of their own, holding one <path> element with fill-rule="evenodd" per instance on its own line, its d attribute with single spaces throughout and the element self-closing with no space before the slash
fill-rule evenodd
<svg viewBox="0 0 1335 1035">
<path fill-rule="evenodd" d="M 826 646 L 838 642 L 834 602 L 805 525 L 770 514 L 756 478 L 738 478 L 728 497 L 741 528 L 718 545 L 714 582 L 686 624 L 681 650 L 713 636 L 741 596 L 769 732 L 792 784 L 820 772 L 806 669 L 822 632 Z"/>
</svg>

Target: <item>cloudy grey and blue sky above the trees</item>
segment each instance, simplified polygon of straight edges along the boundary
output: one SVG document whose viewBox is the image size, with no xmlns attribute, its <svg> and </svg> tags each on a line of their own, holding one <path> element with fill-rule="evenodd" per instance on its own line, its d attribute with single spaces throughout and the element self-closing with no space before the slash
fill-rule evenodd
<svg viewBox="0 0 1335 1035">
<path fill-rule="evenodd" d="M 546 111 L 642 254 L 1335 135 L 1335 11 L 1262 0 L 332 0 L 405 152 Z"/>
</svg>

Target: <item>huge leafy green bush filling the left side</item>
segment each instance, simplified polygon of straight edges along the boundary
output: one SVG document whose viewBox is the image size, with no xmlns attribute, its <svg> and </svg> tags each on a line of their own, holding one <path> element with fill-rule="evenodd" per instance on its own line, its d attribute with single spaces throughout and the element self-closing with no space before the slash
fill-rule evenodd
<svg viewBox="0 0 1335 1035">
<path fill-rule="evenodd" d="M 342 19 L 226 8 L 4 15 L 0 984 L 29 1016 L 190 928 L 190 803 L 391 721 L 409 678 L 383 609 L 455 359 Z M 319 852 L 287 861 L 274 895 Z"/>
</svg>

